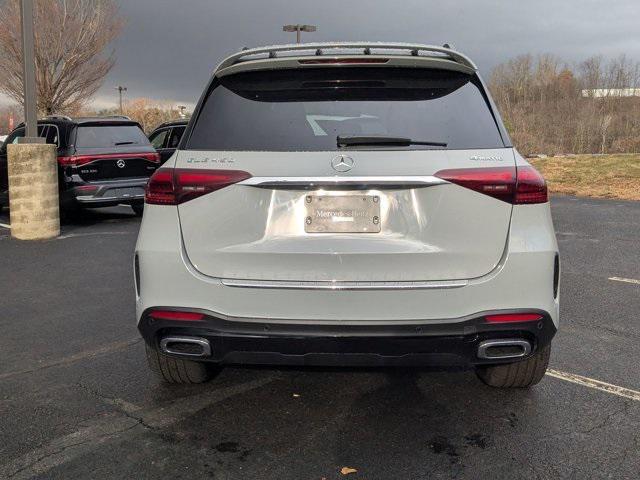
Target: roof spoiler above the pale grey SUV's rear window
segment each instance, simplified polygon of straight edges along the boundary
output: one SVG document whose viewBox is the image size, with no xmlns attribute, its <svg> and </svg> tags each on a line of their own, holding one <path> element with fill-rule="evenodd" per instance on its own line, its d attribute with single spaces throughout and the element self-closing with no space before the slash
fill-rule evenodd
<svg viewBox="0 0 640 480">
<path fill-rule="evenodd" d="M 242 50 L 225 58 L 216 68 L 216 71 L 230 67 L 237 63 L 249 60 L 256 60 L 256 55 L 266 55 L 266 58 L 276 58 L 278 53 L 282 52 L 300 52 L 300 56 L 316 56 L 326 55 L 327 50 L 362 50 L 360 55 L 370 55 L 372 50 L 386 50 L 387 52 L 380 52 L 383 55 L 389 54 L 388 50 L 399 50 L 404 53 L 399 55 L 412 55 L 420 56 L 421 53 L 435 54 L 433 56 L 442 57 L 447 60 L 459 63 L 473 70 L 477 70 L 476 65 L 466 55 L 453 50 L 452 48 L 439 47 L 435 45 L 420 45 L 411 43 L 384 43 L 384 42 L 330 42 L 330 43 L 295 43 L 288 45 L 272 45 L 268 47 L 250 48 L 248 50 Z M 303 53 L 308 51 L 309 53 Z M 395 54 L 398 55 L 398 54 Z"/>
</svg>

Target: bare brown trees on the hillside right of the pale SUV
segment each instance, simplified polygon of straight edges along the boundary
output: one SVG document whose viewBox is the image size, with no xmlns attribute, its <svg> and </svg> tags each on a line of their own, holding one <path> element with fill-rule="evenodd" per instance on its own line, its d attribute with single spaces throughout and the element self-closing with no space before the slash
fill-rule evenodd
<svg viewBox="0 0 640 480">
<path fill-rule="evenodd" d="M 489 87 L 523 153 L 640 151 L 640 63 L 624 55 L 577 67 L 521 55 L 498 65 Z"/>
</svg>

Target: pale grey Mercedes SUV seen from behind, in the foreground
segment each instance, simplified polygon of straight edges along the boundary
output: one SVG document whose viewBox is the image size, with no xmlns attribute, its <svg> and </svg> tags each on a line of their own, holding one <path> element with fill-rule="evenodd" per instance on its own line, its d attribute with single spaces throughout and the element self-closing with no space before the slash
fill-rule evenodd
<svg viewBox="0 0 640 480">
<path fill-rule="evenodd" d="M 547 188 L 448 46 L 228 57 L 145 201 L 137 320 L 165 381 L 228 364 L 431 365 L 527 387 L 547 368 Z"/>
</svg>

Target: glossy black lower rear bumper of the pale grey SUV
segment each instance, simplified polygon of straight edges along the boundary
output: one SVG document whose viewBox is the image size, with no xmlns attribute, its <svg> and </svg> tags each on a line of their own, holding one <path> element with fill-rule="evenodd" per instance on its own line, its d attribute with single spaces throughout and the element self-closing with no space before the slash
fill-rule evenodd
<svg viewBox="0 0 640 480">
<path fill-rule="evenodd" d="M 198 360 L 218 364 L 464 368 L 514 361 L 479 358 L 478 347 L 486 340 L 526 340 L 532 355 L 556 333 L 551 316 L 544 311 L 537 311 L 542 318 L 533 322 L 486 321 L 489 314 L 518 312 L 500 310 L 413 325 L 256 323 L 203 310 L 191 310 L 203 313 L 203 320 L 185 322 L 152 318 L 150 311 L 143 313 L 138 328 L 151 347 L 160 349 L 162 339 L 168 337 L 204 339 L 211 354 Z"/>
</svg>

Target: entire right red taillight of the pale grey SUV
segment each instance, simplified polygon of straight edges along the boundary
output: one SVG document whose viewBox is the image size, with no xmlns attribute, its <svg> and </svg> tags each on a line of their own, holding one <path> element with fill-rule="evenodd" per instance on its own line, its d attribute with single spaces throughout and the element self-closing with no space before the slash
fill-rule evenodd
<svg viewBox="0 0 640 480">
<path fill-rule="evenodd" d="M 455 168 L 435 176 L 515 205 L 548 201 L 547 184 L 531 166 Z"/>
</svg>

